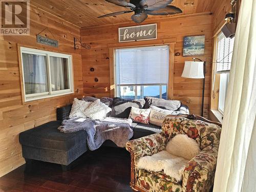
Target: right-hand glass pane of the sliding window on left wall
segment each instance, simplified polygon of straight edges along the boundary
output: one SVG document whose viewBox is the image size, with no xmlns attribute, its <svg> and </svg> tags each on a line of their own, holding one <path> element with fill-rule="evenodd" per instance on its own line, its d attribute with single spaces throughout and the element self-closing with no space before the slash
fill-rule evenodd
<svg viewBox="0 0 256 192">
<path fill-rule="evenodd" d="M 70 89 L 69 60 L 50 56 L 52 91 Z"/>
</svg>

